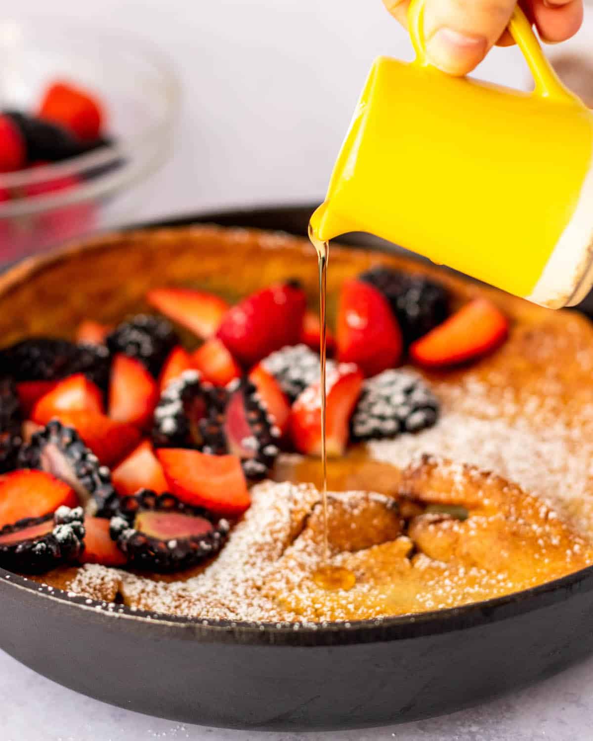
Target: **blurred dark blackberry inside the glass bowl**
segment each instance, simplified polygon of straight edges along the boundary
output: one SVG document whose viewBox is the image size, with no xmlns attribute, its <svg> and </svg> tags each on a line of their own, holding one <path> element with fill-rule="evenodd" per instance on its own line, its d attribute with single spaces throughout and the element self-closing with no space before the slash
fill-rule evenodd
<svg viewBox="0 0 593 741">
<path fill-rule="evenodd" d="M 62 159 L 76 157 L 85 150 L 76 136 L 58 124 L 16 110 L 5 111 L 4 115 L 19 129 L 29 163 L 59 162 Z"/>
</svg>

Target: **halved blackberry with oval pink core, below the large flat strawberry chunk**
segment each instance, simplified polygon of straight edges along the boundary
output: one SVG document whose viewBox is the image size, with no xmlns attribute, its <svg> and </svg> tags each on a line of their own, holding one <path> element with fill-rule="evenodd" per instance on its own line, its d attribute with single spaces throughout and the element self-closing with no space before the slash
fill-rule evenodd
<svg viewBox="0 0 593 741">
<path fill-rule="evenodd" d="M 128 565 L 150 571 L 177 571 L 214 556 L 230 529 L 226 519 L 149 489 L 120 499 L 110 522 L 110 536 Z"/>
</svg>

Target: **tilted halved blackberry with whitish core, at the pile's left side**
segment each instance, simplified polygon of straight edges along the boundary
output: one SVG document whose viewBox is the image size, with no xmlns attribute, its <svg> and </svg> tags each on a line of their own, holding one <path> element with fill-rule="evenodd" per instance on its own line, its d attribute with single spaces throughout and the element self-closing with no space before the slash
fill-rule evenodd
<svg viewBox="0 0 593 741">
<path fill-rule="evenodd" d="M 89 514 L 110 516 L 117 495 L 107 466 L 87 448 L 79 433 L 52 419 L 33 433 L 31 441 L 19 453 L 19 468 L 35 468 L 52 473 L 70 485 Z"/>
</svg>

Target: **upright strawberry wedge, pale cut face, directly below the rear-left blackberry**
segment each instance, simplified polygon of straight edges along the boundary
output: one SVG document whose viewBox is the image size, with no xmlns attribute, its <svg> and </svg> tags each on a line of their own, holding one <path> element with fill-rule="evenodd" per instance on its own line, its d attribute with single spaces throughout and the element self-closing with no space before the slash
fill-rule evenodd
<svg viewBox="0 0 593 741">
<path fill-rule="evenodd" d="M 136 358 L 118 353 L 109 380 L 109 416 L 116 422 L 145 427 L 153 418 L 159 388 Z"/>
</svg>

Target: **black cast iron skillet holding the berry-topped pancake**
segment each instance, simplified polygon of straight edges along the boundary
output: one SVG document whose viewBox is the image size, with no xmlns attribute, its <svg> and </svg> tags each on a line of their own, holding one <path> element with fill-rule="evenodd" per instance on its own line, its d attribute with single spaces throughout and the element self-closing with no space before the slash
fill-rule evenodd
<svg viewBox="0 0 593 741">
<path fill-rule="evenodd" d="M 311 210 L 159 226 L 304 234 Z M 46 677 L 131 710 L 230 728 L 355 728 L 451 713 L 549 677 L 593 649 L 593 567 L 462 608 L 317 630 L 113 611 L 2 569 L 0 601 L 1 648 Z"/>
</svg>

